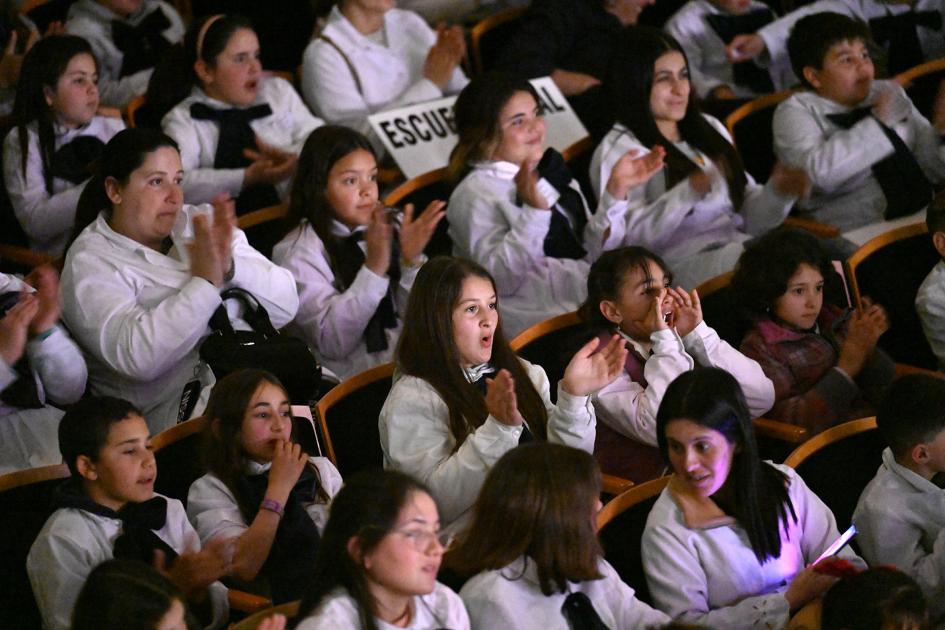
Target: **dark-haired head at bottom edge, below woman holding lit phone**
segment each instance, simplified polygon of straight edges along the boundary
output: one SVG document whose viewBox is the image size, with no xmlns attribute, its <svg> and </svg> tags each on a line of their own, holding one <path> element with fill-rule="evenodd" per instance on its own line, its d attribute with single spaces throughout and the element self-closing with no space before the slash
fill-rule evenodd
<svg viewBox="0 0 945 630">
<path fill-rule="evenodd" d="M 925 597 L 892 567 L 845 577 L 824 595 L 820 630 L 929 630 Z"/>
</svg>

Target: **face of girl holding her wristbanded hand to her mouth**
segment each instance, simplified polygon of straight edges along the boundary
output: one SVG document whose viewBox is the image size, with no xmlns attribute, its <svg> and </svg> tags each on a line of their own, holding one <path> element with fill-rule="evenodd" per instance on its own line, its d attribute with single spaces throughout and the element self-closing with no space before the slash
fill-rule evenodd
<svg viewBox="0 0 945 630">
<path fill-rule="evenodd" d="M 263 382 L 256 389 L 243 416 L 240 442 L 247 457 L 260 463 L 272 461 L 276 444 L 292 435 L 292 409 L 281 387 Z"/>
</svg>

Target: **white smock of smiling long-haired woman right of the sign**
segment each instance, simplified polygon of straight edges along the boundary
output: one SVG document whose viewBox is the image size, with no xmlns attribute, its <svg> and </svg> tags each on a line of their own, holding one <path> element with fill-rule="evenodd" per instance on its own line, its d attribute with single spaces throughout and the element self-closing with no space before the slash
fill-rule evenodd
<svg viewBox="0 0 945 630">
<path fill-rule="evenodd" d="M 715 118 L 705 119 L 728 142 L 732 139 Z M 728 184 L 708 156 L 686 142 L 676 147 L 690 159 L 698 157 L 712 180 L 712 190 L 699 198 L 688 178 L 666 188 L 666 172 L 630 189 L 625 240 L 642 245 L 663 257 L 676 279 L 686 287 L 731 271 L 742 252 L 742 243 L 751 236 L 777 227 L 791 210 L 794 197 L 783 197 L 770 184 L 755 183 L 745 173 L 744 201 L 735 212 L 728 194 Z M 591 159 L 591 184 L 600 195 L 610 172 L 627 151 L 648 153 L 632 131 L 617 123 L 594 151 Z M 698 164 L 698 160 L 694 159 Z"/>
</svg>

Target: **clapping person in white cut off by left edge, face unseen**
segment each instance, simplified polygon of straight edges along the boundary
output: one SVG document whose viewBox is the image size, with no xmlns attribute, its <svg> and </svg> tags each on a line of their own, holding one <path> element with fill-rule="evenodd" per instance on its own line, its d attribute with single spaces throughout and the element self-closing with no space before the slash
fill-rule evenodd
<svg viewBox="0 0 945 630">
<path fill-rule="evenodd" d="M 8 310 L 9 309 L 9 310 Z M 0 474 L 62 461 L 62 410 L 85 393 L 82 352 L 59 326 L 59 278 L 0 273 Z"/>
</svg>

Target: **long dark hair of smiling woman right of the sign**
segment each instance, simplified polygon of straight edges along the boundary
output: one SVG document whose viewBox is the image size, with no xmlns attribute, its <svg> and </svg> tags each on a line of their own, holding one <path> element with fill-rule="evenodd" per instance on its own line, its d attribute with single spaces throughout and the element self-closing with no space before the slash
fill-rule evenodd
<svg viewBox="0 0 945 630">
<path fill-rule="evenodd" d="M 629 129 L 644 146 L 666 149 L 666 188 L 685 179 L 699 167 L 668 140 L 656 126 L 650 109 L 656 60 L 668 52 L 686 53 L 672 36 L 650 27 L 627 29 L 615 47 L 604 78 L 604 98 L 617 122 Z M 686 59 L 686 67 L 689 60 Z M 696 91 L 689 91 L 686 115 L 679 121 L 682 139 L 719 163 L 732 206 L 739 210 L 745 197 L 745 167 L 735 147 L 702 116 Z"/>
</svg>

